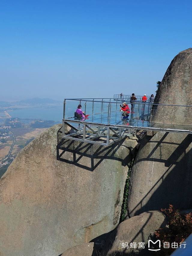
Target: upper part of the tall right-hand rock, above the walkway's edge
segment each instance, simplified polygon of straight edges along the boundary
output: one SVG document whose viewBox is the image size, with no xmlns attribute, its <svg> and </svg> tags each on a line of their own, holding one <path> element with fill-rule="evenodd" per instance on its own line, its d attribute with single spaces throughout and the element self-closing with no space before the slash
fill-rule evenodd
<svg viewBox="0 0 192 256">
<path fill-rule="evenodd" d="M 192 105 L 192 48 L 180 52 L 172 60 L 158 88 L 155 102 Z M 152 121 L 192 125 L 192 108 L 158 106 Z"/>
</svg>

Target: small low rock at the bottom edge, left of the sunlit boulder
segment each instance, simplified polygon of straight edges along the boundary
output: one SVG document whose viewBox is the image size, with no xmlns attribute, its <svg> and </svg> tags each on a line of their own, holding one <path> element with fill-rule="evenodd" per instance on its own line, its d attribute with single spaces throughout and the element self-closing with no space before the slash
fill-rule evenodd
<svg viewBox="0 0 192 256">
<path fill-rule="evenodd" d="M 92 256 L 94 251 L 94 243 L 83 243 L 81 245 L 76 245 L 67 251 L 65 251 L 61 256 Z"/>
</svg>

